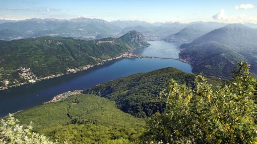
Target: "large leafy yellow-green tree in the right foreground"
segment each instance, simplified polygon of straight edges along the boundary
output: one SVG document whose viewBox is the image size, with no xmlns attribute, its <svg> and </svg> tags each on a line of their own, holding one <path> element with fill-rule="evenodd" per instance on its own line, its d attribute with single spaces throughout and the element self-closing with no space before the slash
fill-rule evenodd
<svg viewBox="0 0 257 144">
<path fill-rule="evenodd" d="M 238 63 L 233 80 L 213 88 L 201 75 L 194 88 L 171 79 L 160 93 L 165 112 L 147 122 L 143 140 L 153 143 L 257 143 L 256 80 Z"/>
</svg>

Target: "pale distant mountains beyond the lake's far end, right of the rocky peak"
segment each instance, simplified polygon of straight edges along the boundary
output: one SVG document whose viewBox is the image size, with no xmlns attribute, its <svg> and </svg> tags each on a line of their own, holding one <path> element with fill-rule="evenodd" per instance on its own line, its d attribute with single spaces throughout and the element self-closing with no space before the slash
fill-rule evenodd
<svg viewBox="0 0 257 144">
<path fill-rule="evenodd" d="M 175 23 L 164 23 L 164 24 L 152 24 L 152 25 L 136 25 L 124 28 L 121 33 L 127 33 L 129 31 L 138 31 L 141 32 L 147 40 L 161 40 L 162 38 L 167 37 L 168 35 L 177 33 L 183 29 L 186 24 L 181 24 L 178 22 Z"/>
</svg>

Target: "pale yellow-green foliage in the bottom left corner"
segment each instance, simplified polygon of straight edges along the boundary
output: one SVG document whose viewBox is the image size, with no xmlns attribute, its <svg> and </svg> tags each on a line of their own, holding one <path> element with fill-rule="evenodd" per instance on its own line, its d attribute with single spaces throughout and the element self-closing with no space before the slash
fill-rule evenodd
<svg viewBox="0 0 257 144">
<path fill-rule="evenodd" d="M 23 127 L 17 124 L 18 120 L 9 114 L 8 118 L 0 121 L 0 143 L 19 144 L 54 144 L 58 142 L 49 141 L 44 135 L 32 132 L 32 126 Z"/>
</svg>

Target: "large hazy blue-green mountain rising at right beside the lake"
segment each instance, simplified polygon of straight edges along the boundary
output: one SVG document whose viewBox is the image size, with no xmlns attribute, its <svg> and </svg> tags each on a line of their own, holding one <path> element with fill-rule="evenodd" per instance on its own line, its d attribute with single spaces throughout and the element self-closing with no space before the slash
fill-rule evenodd
<svg viewBox="0 0 257 144">
<path fill-rule="evenodd" d="M 230 77 L 238 61 L 251 64 L 257 74 L 257 30 L 231 24 L 180 46 L 179 57 L 191 63 L 195 73 Z"/>
</svg>

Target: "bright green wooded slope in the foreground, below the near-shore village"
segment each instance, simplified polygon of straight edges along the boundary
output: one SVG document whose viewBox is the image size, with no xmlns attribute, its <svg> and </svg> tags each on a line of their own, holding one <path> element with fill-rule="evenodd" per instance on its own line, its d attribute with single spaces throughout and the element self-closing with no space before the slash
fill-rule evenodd
<svg viewBox="0 0 257 144">
<path fill-rule="evenodd" d="M 128 142 L 145 125 L 143 119 L 122 112 L 110 100 L 83 94 L 35 106 L 14 116 L 23 125 L 33 121 L 36 132 L 61 143 Z"/>
</svg>

